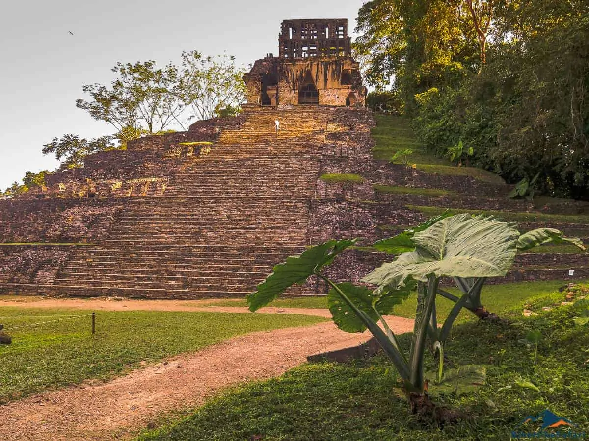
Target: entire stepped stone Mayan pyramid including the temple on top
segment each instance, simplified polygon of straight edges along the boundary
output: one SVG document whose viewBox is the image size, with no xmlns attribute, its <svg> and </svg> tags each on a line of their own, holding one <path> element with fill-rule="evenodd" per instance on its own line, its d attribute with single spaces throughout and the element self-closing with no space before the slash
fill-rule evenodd
<svg viewBox="0 0 589 441">
<path fill-rule="evenodd" d="M 504 183 L 373 159 L 376 123 L 364 106 L 347 26 L 346 19 L 283 21 L 278 56 L 256 61 L 244 76 L 247 104 L 239 116 L 95 153 L 83 168 L 53 173 L 47 186 L 0 201 L 1 291 L 243 296 L 305 246 L 352 237 L 370 244 L 427 219 L 419 206 L 526 211 L 527 201 L 505 198 Z M 322 179 L 328 173 L 362 178 Z M 379 191 L 383 185 L 447 194 Z M 579 233 L 575 228 L 562 229 Z M 560 268 L 523 270 L 555 261 L 542 256 L 519 256 L 508 277 L 561 277 Z M 359 280 L 386 257 L 353 250 L 330 275 Z M 589 271 L 583 266 L 575 276 Z M 310 280 L 290 293 L 325 289 Z"/>
</svg>

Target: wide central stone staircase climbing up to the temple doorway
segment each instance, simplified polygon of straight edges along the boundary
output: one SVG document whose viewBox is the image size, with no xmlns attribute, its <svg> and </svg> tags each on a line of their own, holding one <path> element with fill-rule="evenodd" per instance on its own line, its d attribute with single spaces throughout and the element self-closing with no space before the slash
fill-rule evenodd
<svg viewBox="0 0 589 441">
<path fill-rule="evenodd" d="M 110 235 L 78 247 L 53 285 L 19 290 L 144 298 L 253 292 L 273 265 L 309 243 L 310 198 L 334 112 L 247 112 L 207 155 L 184 162 L 163 196 L 131 198 Z"/>
</svg>

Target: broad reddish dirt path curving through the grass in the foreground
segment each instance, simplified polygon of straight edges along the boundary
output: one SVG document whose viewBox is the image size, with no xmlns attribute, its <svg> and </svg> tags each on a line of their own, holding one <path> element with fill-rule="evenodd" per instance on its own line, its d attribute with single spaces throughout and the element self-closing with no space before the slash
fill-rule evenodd
<svg viewBox="0 0 589 441">
<path fill-rule="evenodd" d="M 394 318 L 395 332 L 412 320 Z M 198 406 L 227 386 L 278 376 L 312 353 L 357 345 L 368 333 L 333 323 L 251 333 L 99 385 L 42 393 L 0 406 L 2 440 L 125 439 L 159 416 Z"/>
</svg>

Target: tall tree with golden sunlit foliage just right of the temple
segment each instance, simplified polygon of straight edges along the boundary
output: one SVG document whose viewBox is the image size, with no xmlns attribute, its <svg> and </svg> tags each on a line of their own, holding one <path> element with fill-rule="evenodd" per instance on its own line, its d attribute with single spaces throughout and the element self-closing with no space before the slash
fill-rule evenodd
<svg viewBox="0 0 589 441">
<path fill-rule="evenodd" d="M 393 82 L 408 111 L 413 96 L 474 70 L 475 34 L 462 2 L 373 0 L 358 12 L 355 51 L 370 85 Z"/>
</svg>

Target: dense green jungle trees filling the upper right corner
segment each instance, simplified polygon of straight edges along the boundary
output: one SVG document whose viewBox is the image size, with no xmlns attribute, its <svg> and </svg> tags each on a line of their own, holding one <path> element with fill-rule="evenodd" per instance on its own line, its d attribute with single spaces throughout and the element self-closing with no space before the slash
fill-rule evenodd
<svg viewBox="0 0 589 441">
<path fill-rule="evenodd" d="M 589 1 L 373 0 L 355 43 L 373 109 L 428 149 L 589 199 Z M 534 180 L 535 178 L 535 180 Z"/>
</svg>

